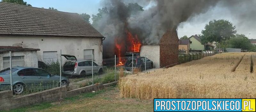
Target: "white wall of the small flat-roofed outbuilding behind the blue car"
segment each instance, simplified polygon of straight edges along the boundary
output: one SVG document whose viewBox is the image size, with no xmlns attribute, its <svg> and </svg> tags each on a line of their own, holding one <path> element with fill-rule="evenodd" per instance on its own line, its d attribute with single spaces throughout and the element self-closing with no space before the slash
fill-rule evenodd
<svg viewBox="0 0 256 112">
<path fill-rule="evenodd" d="M 36 51 L 20 51 L 20 52 L 12 52 L 12 56 L 24 56 L 24 67 L 38 67 L 38 58 Z M 3 57 L 10 57 L 10 53 L 6 52 L 0 54 L 0 70 L 3 70 Z M 12 67 L 17 65 L 12 64 Z"/>
</svg>

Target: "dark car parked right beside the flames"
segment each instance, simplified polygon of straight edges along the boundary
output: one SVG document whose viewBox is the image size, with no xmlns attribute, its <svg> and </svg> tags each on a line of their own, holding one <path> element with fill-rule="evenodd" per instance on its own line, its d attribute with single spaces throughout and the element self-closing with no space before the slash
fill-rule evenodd
<svg viewBox="0 0 256 112">
<path fill-rule="evenodd" d="M 132 71 L 132 60 L 133 60 L 133 68 L 140 68 L 141 70 L 145 70 L 145 57 L 134 57 L 128 58 L 124 64 L 124 68 L 127 71 Z M 153 68 L 153 61 L 146 58 L 146 69 Z"/>
</svg>

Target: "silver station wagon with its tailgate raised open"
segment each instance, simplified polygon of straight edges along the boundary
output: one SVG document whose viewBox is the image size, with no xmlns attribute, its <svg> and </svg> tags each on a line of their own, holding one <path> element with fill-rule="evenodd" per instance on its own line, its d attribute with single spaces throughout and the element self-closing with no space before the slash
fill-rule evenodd
<svg viewBox="0 0 256 112">
<path fill-rule="evenodd" d="M 63 54 L 67 61 L 65 62 L 62 73 L 69 76 L 84 76 L 92 74 L 92 61 L 77 60 L 75 56 Z M 102 74 L 103 67 L 93 62 L 93 74 Z"/>
</svg>

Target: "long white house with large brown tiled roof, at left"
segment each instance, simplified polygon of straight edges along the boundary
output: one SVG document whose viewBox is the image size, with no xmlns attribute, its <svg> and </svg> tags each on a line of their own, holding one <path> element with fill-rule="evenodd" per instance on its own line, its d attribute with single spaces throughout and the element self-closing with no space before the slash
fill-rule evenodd
<svg viewBox="0 0 256 112">
<path fill-rule="evenodd" d="M 0 2 L 0 45 L 40 49 L 39 60 L 52 55 L 74 55 L 102 64 L 104 37 L 77 13 Z M 64 58 L 63 58 L 64 59 Z"/>
</svg>

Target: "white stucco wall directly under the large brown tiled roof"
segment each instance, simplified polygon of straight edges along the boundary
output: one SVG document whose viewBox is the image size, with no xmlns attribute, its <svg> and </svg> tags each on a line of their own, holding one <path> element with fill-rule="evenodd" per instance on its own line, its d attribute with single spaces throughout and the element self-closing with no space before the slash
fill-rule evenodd
<svg viewBox="0 0 256 112">
<path fill-rule="evenodd" d="M 84 50 L 93 49 L 95 63 L 102 65 L 101 38 L 0 36 L 0 45 L 40 49 L 37 51 L 38 56 L 43 56 L 43 52 L 47 51 L 57 51 L 60 54 L 61 49 L 62 54 L 74 55 L 78 60 L 84 59 Z"/>
</svg>

